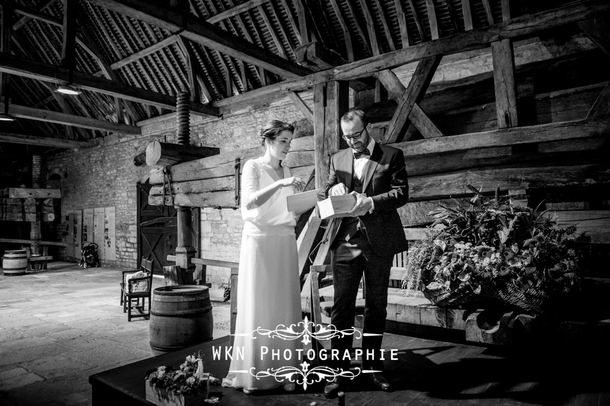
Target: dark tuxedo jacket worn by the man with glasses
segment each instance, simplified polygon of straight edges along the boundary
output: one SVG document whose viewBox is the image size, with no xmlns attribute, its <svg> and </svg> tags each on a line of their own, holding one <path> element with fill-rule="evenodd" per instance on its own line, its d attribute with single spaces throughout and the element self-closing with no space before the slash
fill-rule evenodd
<svg viewBox="0 0 610 406">
<path fill-rule="evenodd" d="M 326 183 L 328 190 L 343 183 L 352 192 L 353 152 L 343 149 L 332 156 Z M 375 210 L 359 217 L 373 251 L 378 255 L 393 255 L 407 250 L 403 225 L 397 209 L 409 200 L 407 171 L 400 149 L 375 142 L 370 161 L 365 168 L 362 193 L 373 198 Z"/>
</svg>

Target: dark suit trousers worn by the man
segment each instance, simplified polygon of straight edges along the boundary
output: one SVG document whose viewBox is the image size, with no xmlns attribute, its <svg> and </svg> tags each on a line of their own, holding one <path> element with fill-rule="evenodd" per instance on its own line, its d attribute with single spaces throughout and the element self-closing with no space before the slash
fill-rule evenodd
<svg viewBox="0 0 610 406">
<path fill-rule="evenodd" d="M 390 281 L 390 267 L 393 255 L 378 256 L 371 250 L 367 236 L 357 231 L 353 236 L 337 236 L 331 247 L 331 260 L 334 265 L 332 279 L 334 284 L 334 304 L 331 310 L 331 323 L 337 330 L 350 329 L 356 316 L 356 295 L 362 275 L 365 286 L 364 334 L 379 334 L 362 337 L 362 351 L 373 350 L 374 356 L 362 357 L 364 369 L 383 370 L 379 360 L 381 341 L 386 329 L 387 288 Z M 340 360 L 332 362 L 335 368 L 346 371 L 350 360 L 343 360 L 345 350 L 351 350 L 353 335 L 333 337 L 332 349 L 339 349 Z"/>
</svg>

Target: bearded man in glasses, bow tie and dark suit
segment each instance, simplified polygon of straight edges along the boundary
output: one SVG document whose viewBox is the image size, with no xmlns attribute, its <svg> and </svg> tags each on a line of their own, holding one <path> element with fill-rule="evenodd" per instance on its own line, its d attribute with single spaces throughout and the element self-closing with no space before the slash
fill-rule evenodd
<svg viewBox="0 0 610 406">
<path fill-rule="evenodd" d="M 334 305 L 331 323 L 337 330 L 354 326 L 358 286 L 364 274 L 365 310 L 363 333 L 378 334 L 362 338 L 362 369 L 373 384 L 389 390 L 382 375 L 379 358 L 381 340 L 386 328 L 387 289 L 393 256 L 407 249 L 403 226 L 397 209 L 409 198 L 404 155 L 400 149 L 375 142 L 368 133 L 367 116 L 362 110 L 350 110 L 341 117 L 343 139 L 350 146 L 332 156 L 326 194 L 353 194 L 356 206 L 341 219 L 331 245 L 334 281 Z M 352 335 L 334 337 L 332 349 L 339 354 L 351 349 Z M 368 350 L 368 352 L 367 352 Z M 367 354 L 368 357 L 367 357 Z M 372 356 L 371 356 L 372 354 Z M 350 369 L 350 360 L 339 360 L 343 371 Z M 342 377 L 324 388 L 331 396 L 342 390 Z"/>
</svg>

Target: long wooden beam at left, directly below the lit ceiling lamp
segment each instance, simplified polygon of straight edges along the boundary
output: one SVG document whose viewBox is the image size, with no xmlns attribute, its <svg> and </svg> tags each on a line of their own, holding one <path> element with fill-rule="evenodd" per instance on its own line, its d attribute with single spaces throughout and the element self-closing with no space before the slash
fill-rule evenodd
<svg viewBox="0 0 610 406">
<path fill-rule="evenodd" d="M 4 111 L 4 103 L 0 102 L 0 109 Z M 73 116 L 57 111 L 40 110 L 12 104 L 10 113 L 15 117 L 37 121 L 54 122 L 56 124 L 74 125 L 75 127 L 90 128 L 91 130 L 109 131 L 112 133 L 140 135 L 142 130 L 135 125 L 118 124 L 111 121 L 93 119 L 89 117 Z"/>
</svg>

